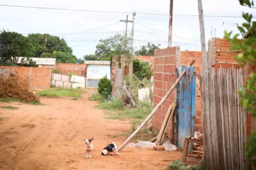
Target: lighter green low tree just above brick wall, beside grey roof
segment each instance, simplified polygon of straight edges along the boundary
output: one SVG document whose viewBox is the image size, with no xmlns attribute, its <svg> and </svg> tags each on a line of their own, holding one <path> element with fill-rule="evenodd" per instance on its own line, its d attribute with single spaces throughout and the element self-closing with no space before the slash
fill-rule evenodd
<svg viewBox="0 0 256 170">
<path fill-rule="evenodd" d="M 76 56 L 67 52 L 60 51 L 54 51 L 50 58 L 56 58 L 56 62 L 58 63 L 76 63 L 78 60 Z"/>
</svg>

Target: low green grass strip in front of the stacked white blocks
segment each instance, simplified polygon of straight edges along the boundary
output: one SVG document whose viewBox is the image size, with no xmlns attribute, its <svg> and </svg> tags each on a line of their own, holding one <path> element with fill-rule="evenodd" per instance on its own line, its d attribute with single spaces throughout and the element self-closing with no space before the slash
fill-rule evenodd
<svg viewBox="0 0 256 170">
<path fill-rule="evenodd" d="M 69 88 L 52 88 L 38 92 L 38 96 L 56 97 L 82 97 L 83 90 Z"/>
</svg>

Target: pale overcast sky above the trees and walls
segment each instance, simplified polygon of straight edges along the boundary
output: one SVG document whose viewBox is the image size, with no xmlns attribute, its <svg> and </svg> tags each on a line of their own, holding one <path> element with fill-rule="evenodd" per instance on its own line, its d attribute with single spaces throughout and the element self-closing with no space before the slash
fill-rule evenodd
<svg viewBox="0 0 256 170">
<path fill-rule="evenodd" d="M 241 16 L 242 11 L 250 12 L 253 16 L 256 16 L 256 9 L 241 7 L 238 0 L 202 0 L 202 3 L 205 16 Z M 140 48 L 147 42 L 161 44 L 161 48 L 168 46 L 170 0 L 0 0 L 0 4 L 166 14 L 136 14 L 135 22 L 138 24 L 134 26 L 134 46 Z M 197 0 L 174 0 L 173 14 L 172 46 L 179 45 L 181 50 L 200 51 L 199 20 L 198 17 L 189 16 L 198 15 Z M 188 16 L 176 16 L 178 14 Z M 125 24 L 119 22 L 119 20 L 125 19 L 126 14 L 120 13 L 0 6 L 1 29 L 19 32 L 24 35 L 28 35 L 28 33 L 48 33 L 63 37 L 68 45 L 72 47 L 73 54 L 78 58 L 85 54 L 94 54 L 98 40 L 113 36 L 117 32 L 122 33 L 125 30 Z M 132 14 L 128 14 L 128 20 L 132 20 Z M 233 32 L 238 33 L 234 23 L 241 24 L 243 21 L 243 18 L 235 17 L 204 17 L 206 42 L 211 38 L 211 28 L 212 30 L 216 28 L 216 36 L 222 38 L 224 30 L 233 30 Z M 107 26 L 109 24 L 113 25 Z M 102 26 L 106 27 L 98 28 Z M 128 31 L 131 29 L 132 23 L 128 23 Z M 78 32 L 82 33 L 73 34 Z M 215 32 L 212 32 L 212 36 L 214 35 Z"/>
</svg>

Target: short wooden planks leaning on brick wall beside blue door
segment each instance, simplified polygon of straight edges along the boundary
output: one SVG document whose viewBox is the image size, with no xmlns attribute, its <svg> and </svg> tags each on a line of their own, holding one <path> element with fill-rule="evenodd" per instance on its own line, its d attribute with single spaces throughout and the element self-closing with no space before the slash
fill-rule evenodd
<svg viewBox="0 0 256 170">
<path fill-rule="evenodd" d="M 168 124 L 172 118 L 172 115 L 174 113 L 174 110 L 176 108 L 176 105 L 174 104 L 174 102 L 172 102 L 170 104 L 170 107 L 168 108 L 168 111 L 166 113 L 166 116 L 164 118 L 164 122 L 161 126 L 160 132 L 158 134 L 158 138 L 156 139 L 156 145 L 160 145 L 164 139 L 164 132 L 166 131 Z"/>
</svg>

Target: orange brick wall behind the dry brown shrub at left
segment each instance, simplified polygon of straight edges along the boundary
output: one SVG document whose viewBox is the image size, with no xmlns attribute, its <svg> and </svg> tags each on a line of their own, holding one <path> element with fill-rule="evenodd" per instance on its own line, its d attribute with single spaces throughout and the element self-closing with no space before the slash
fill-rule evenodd
<svg viewBox="0 0 256 170">
<path fill-rule="evenodd" d="M 52 68 L 43 67 L 12 67 L 0 66 L 10 72 L 18 72 L 22 78 L 27 78 L 32 88 L 50 88 L 52 81 Z"/>
</svg>

